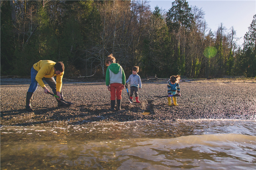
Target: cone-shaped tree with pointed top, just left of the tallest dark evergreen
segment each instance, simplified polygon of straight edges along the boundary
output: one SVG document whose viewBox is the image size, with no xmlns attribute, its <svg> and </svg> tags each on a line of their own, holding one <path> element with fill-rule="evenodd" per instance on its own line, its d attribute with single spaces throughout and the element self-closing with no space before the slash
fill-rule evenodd
<svg viewBox="0 0 256 170">
<path fill-rule="evenodd" d="M 143 47 L 142 69 L 147 72 L 148 76 L 160 74 L 161 77 L 170 77 L 170 72 L 175 71 L 173 50 L 170 44 L 164 16 L 156 6 L 148 24 L 148 34 L 144 39 Z"/>
</svg>

